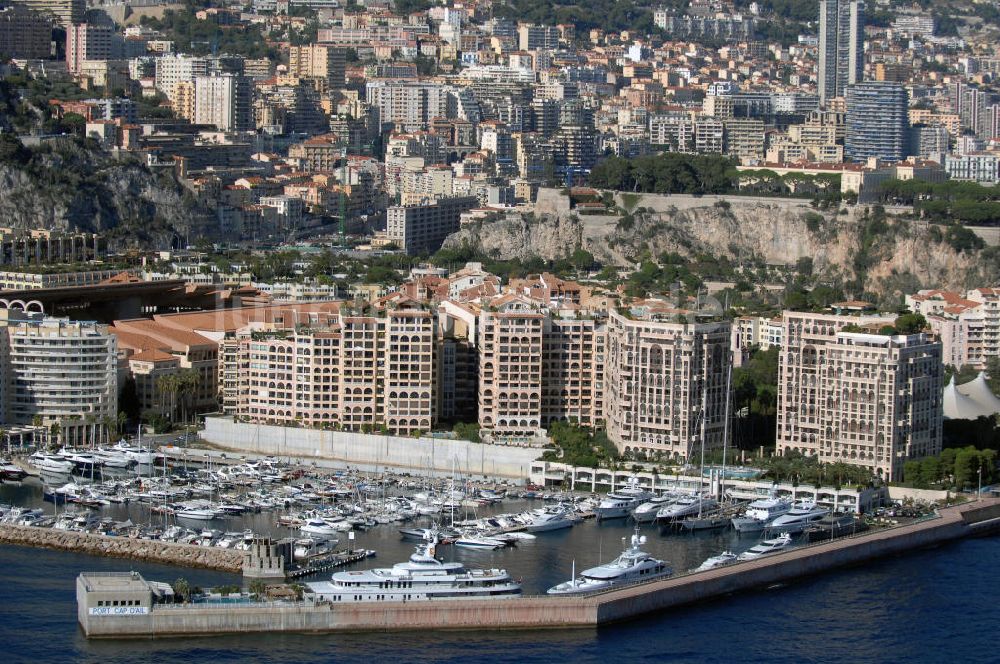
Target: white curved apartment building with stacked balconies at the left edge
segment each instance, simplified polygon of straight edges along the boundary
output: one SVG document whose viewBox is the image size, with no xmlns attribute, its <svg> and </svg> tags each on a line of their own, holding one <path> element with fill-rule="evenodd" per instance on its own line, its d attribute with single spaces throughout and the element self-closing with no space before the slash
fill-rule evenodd
<svg viewBox="0 0 1000 664">
<path fill-rule="evenodd" d="M 67 445 L 103 442 L 118 414 L 117 344 L 106 325 L 2 311 L 0 419 L 41 420 Z"/>
</svg>

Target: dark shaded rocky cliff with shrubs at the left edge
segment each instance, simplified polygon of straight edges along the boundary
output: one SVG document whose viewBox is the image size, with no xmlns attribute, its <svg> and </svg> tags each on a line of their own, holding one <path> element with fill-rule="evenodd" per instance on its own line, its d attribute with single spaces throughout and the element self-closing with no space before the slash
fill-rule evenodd
<svg viewBox="0 0 1000 664">
<path fill-rule="evenodd" d="M 153 246 L 211 228 L 208 212 L 172 175 L 71 140 L 37 149 L 29 163 L 0 164 L 0 218 L 15 228 L 101 231 Z"/>
</svg>

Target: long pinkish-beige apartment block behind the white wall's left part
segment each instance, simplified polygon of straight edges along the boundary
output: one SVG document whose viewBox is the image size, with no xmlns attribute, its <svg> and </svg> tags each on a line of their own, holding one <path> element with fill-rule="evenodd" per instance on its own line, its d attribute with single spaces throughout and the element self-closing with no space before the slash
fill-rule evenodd
<svg viewBox="0 0 1000 664">
<path fill-rule="evenodd" d="M 223 353 L 235 415 L 347 431 L 429 431 L 436 420 L 433 313 L 399 302 L 372 315 L 337 313 L 254 323 Z"/>
</svg>

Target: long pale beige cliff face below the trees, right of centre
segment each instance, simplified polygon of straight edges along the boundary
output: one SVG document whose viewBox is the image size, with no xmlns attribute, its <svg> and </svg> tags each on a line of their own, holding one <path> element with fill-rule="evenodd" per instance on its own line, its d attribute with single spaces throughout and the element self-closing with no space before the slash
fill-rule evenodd
<svg viewBox="0 0 1000 664">
<path fill-rule="evenodd" d="M 565 210 L 508 215 L 463 228 L 445 246 L 469 244 L 497 259 L 562 258 L 577 247 L 604 263 L 627 265 L 644 252 L 707 253 L 734 262 L 795 264 L 865 290 L 965 288 L 1000 281 L 996 250 L 962 253 L 935 241 L 922 222 L 875 224 L 865 208 L 848 214 L 812 210 L 805 202 L 729 197 L 643 196 L 621 217 L 577 216 Z"/>
</svg>

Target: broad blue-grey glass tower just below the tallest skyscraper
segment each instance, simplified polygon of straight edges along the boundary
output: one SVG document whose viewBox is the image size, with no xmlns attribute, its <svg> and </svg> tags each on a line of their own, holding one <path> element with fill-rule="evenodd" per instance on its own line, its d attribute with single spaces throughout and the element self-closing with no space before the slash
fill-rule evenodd
<svg viewBox="0 0 1000 664">
<path fill-rule="evenodd" d="M 847 86 L 844 155 L 854 161 L 906 158 L 909 95 L 899 83 L 869 81 Z"/>
</svg>

